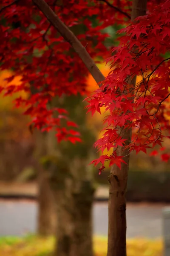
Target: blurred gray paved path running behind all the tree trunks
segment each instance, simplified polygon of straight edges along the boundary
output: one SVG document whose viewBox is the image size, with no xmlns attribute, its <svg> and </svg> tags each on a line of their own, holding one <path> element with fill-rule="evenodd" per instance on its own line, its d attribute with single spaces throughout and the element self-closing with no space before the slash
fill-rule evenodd
<svg viewBox="0 0 170 256">
<path fill-rule="evenodd" d="M 164 205 L 127 204 L 127 238 L 162 236 Z M 0 236 L 34 233 L 37 204 L 35 201 L 0 201 Z M 93 208 L 94 233 L 107 236 L 108 205 L 95 203 Z"/>
</svg>

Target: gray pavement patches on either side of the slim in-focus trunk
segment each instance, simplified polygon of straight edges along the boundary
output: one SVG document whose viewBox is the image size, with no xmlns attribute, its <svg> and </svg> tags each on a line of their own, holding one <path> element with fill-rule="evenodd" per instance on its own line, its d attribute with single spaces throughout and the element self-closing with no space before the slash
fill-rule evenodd
<svg viewBox="0 0 170 256">
<path fill-rule="evenodd" d="M 127 238 L 162 237 L 162 209 L 163 205 L 127 204 Z M 95 204 L 94 233 L 106 235 L 108 233 L 108 206 Z"/>
</svg>

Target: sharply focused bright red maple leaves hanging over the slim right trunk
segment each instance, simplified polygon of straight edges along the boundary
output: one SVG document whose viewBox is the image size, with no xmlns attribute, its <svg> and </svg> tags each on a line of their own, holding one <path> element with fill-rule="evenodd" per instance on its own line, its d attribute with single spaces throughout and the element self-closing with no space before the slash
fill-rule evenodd
<svg viewBox="0 0 170 256">
<path fill-rule="evenodd" d="M 101 151 L 113 148 L 113 154 L 92 162 L 101 162 L 101 170 L 107 160 L 111 160 L 110 165 L 120 166 L 122 158 L 117 156 L 116 149 L 125 143 L 127 129 L 133 128 L 132 141 L 127 145 L 129 154 L 146 153 L 147 148 L 161 145 L 163 138 L 169 136 L 170 122 L 164 117 L 164 102 L 170 95 L 170 58 L 163 55 L 170 51 L 170 1 L 137 21 L 119 31 L 126 34 L 119 47 L 113 49 L 116 54 L 107 60 L 111 62 L 111 72 L 88 99 L 88 111 L 92 114 L 100 113 L 101 107 L 110 112 L 104 120 L 105 134 L 95 146 Z M 141 81 L 133 82 L 135 76 L 141 76 Z M 169 157 L 162 155 L 163 160 Z"/>
</svg>

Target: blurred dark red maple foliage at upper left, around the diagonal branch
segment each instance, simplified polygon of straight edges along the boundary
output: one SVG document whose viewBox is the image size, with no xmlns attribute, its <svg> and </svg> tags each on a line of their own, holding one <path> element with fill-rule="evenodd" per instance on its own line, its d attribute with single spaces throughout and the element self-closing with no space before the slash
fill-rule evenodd
<svg viewBox="0 0 170 256">
<path fill-rule="evenodd" d="M 124 13 L 98 0 L 46 2 L 77 35 L 82 45 L 87 46 L 92 58 L 105 58 L 108 54 L 104 45 L 108 34 L 102 30 L 128 19 Z M 119 6 L 122 12 L 125 2 L 122 1 Z M 126 12 L 128 15 L 129 10 Z M 12 68 L 16 75 L 23 76 L 20 87 L 11 85 L 5 88 L 5 94 L 25 90 L 29 98 L 20 97 L 15 105 L 27 109 L 25 114 L 32 117 L 34 127 L 47 131 L 56 127 L 59 140 L 71 138 L 73 134 L 70 134 L 67 125 L 75 124 L 68 122 L 66 128 L 61 127 L 61 119 L 69 121 L 68 115 L 64 111 L 64 115 L 61 115 L 52 107 L 49 109 L 49 102 L 54 96 L 85 93 L 88 70 L 70 44 L 49 24 L 31 0 L 4 0 L 0 4 L 0 15 L 0 69 Z M 8 80 L 12 81 L 13 78 Z M 54 111 L 58 111 L 57 118 L 54 118 Z"/>
</svg>

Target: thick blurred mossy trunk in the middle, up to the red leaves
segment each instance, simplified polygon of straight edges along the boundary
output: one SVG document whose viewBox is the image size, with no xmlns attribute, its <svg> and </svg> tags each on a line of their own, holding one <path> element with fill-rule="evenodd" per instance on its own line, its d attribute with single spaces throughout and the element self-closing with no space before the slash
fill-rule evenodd
<svg viewBox="0 0 170 256">
<path fill-rule="evenodd" d="M 79 125 L 82 143 L 62 141 L 51 148 L 56 164 L 51 168 L 50 185 L 57 206 L 57 234 L 54 256 L 93 256 L 92 204 L 94 198 L 92 166 L 88 166 L 95 141 L 86 126 L 82 96 L 63 96 L 53 106 L 69 111 Z M 54 141 L 55 131 L 51 140 Z M 49 143 L 49 145 L 52 145 Z M 96 153 L 95 153 L 96 154 Z M 93 159 L 93 158 L 92 158 Z"/>
</svg>

